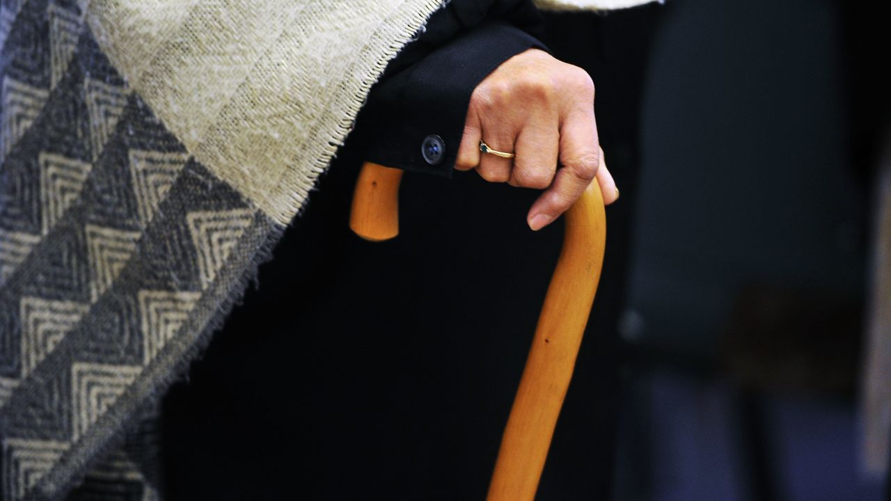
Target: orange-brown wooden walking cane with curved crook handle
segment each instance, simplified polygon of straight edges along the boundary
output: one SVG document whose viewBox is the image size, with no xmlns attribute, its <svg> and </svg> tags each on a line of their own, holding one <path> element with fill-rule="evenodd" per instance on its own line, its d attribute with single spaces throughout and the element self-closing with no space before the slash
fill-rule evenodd
<svg viewBox="0 0 891 501">
<path fill-rule="evenodd" d="M 349 223 L 356 234 L 380 242 L 399 233 L 402 173 L 398 168 L 364 164 Z M 535 497 L 601 277 L 605 242 L 606 213 L 595 181 L 566 212 L 563 248 L 504 429 L 488 501 Z"/>
</svg>

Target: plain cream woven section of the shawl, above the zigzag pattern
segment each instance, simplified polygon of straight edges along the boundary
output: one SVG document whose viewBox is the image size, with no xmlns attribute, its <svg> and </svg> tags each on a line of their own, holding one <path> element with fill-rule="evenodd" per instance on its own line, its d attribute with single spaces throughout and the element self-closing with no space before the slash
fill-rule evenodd
<svg viewBox="0 0 891 501">
<path fill-rule="evenodd" d="M 386 63 L 442 3 L 93 0 L 88 19 L 110 61 L 196 160 L 287 224 Z"/>
</svg>

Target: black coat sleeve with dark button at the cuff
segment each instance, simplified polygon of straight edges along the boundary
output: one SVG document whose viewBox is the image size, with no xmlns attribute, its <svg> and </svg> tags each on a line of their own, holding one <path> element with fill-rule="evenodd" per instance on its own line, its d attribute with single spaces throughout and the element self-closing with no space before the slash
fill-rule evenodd
<svg viewBox="0 0 891 501">
<path fill-rule="evenodd" d="M 502 62 L 530 47 L 544 21 L 531 0 L 453 0 L 390 62 L 356 132 L 365 160 L 450 177 L 470 94 Z"/>
</svg>

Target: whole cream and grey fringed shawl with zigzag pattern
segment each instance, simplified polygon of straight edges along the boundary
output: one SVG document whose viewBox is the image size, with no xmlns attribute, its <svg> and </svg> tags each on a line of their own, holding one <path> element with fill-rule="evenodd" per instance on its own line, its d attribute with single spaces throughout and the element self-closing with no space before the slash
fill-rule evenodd
<svg viewBox="0 0 891 501">
<path fill-rule="evenodd" d="M 444 3 L 0 1 L 0 497 L 159 498 L 157 398 Z"/>
</svg>

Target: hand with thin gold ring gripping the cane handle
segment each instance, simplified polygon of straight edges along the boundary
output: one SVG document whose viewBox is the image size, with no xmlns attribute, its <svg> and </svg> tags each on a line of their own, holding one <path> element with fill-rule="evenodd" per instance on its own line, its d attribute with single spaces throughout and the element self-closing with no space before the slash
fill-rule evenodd
<svg viewBox="0 0 891 501">
<path fill-rule="evenodd" d="M 484 154 L 480 140 L 516 156 Z M 595 178 L 603 201 L 616 201 L 616 182 L 601 161 L 594 84 L 581 68 L 529 49 L 503 62 L 470 96 L 455 168 L 476 168 L 493 183 L 544 189 L 527 215 L 533 230 L 569 209 Z"/>
</svg>

